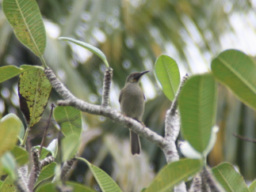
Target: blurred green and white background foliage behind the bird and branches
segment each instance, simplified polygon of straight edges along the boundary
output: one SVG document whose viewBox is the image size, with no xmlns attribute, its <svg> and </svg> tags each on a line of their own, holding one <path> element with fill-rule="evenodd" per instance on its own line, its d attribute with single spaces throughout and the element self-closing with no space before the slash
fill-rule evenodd
<svg viewBox="0 0 256 192">
<path fill-rule="evenodd" d="M 1 0 L 0 0 L 1 2 Z M 143 122 L 163 134 L 170 101 L 155 79 L 159 55 L 174 58 L 181 70 L 193 75 L 209 71 L 212 58 L 227 48 L 255 56 L 256 2 L 254 0 L 38 0 L 48 35 L 44 58 L 59 79 L 82 100 L 101 104 L 105 66 L 97 56 L 74 44 L 57 40 L 73 37 L 99 47 L 114 70 L 111 106 L 120 111 L 118 96 L 129 73 L 150 70 L 142 79 L 147 97 Z M 2 5 L 2 4 L 0 4 Z M 0 6 L 0 66 L 40 65 L 39 58 L 19 41 Z M 22 117 L 17 97 L 17 77 L 0 85 L 0 115 Z M 32 129 L 30 141 L 40 143 L 50 104 L 44 118 Z M 105 170 L 124 191 L 139 191 L 166 164 L 162 151 L 141 138 L 143 152 L 132 156 L 128 129 L 101 116 L 83 114 L 80 156 Z M 246 181 L 256 177 L 255 145 L 233 133 L 255 138 L 255 112 L 219 85 L 217 124 L 220 132 L 208 158 L 211 166 L 228 161 L 238 166 Z M 56 137 L 54 122 L 48 141 Z M 48 145 L 47 142 L 45 145 Z M 90 171 L 78 163 L 71 179 L 98 189 Z"/>
</svg>

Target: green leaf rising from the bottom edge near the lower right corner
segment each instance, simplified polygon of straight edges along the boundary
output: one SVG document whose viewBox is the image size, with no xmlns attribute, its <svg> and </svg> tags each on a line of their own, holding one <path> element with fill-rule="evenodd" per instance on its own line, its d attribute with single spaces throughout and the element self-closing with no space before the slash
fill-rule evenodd
<svg viewBox="0 0 256 192">
<path fill-rule="evenodd" d="M 212 168 L 212 173 L 226 191 L 249 192 L 248 187 L 235 168 L 229 163 L 223 163 Z"/>
</svg>

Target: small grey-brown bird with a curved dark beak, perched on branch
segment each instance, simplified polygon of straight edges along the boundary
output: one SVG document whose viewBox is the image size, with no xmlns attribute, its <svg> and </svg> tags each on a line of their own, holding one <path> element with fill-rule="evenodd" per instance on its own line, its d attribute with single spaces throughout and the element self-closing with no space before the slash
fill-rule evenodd
<svg viewBox="0 0 256 192">
<path fill-rule="evenodd" d="M 121 113 L 132 119 L 136 119 L 138 122 L 142 122 L 144 113 L 145 96 L 142 88 L 139 86 L 139 80 L 143 74 L 149 71 L 143 71 L 141 73 L 135 72 L 128 75 L 124 88 L 120 91 L 119 103 Z M 144 126 L 144 124 L 143 124 Z M 139 135 L 130 130 L 130 142 L 132 155 L 139 155 L 140 153 L 140 141 Z"/>
</svg>

